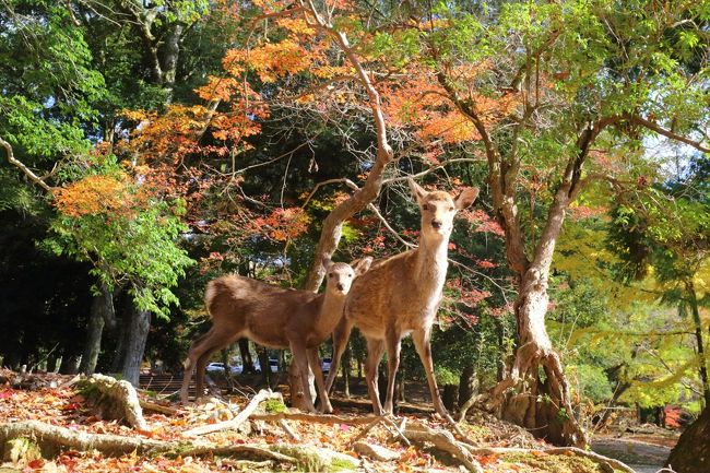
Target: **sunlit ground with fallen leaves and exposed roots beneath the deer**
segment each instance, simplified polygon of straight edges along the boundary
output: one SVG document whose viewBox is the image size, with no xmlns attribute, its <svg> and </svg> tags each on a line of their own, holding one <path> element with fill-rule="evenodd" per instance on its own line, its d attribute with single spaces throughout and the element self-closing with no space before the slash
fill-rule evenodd
<svg viewBox="0 0 710 473">
<path fill-rule="evenodd" d="M 359 397 L 335 397 L 335 416 L 309 416 L 284 411 L 273 399 L 255 402 L 253 390 L 187 405 L 141 390 L 145 424 L 137 428 L 97 411 L 75 378 L 50 374 L 24 378 L 24 383 L 14 382 L 17 379 L 16 374 L 0 370 L 0 473 L 630 473 L 589 452 L 554 449 L 478 411 L 452 433 L 431 414 L 428 401 L 414 399 L 418 395 L 402 403 L 394 419 L 378 421 L 367 415 L 369 403 Z M 407 395 L 414 392 L 407 389 Z M 224 426 L 239 414 L 244 422 L 238 426 Z M 19 428 L 22 434 L 11 434 Z M 122 450 L 106 447 L 109 439 Z M 47 448 L 50 440 L 58 442 L 56 448 Z"/>
</svg>

